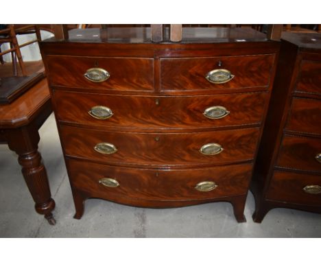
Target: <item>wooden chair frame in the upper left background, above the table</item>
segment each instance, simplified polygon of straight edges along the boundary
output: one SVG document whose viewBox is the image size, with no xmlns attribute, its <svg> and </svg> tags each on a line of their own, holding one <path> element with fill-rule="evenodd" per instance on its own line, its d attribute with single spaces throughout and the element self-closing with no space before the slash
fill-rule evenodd
<svg viewBox="0 0 321 262">
<path fill-rule="evenodd" d="M 16 36 L 21 34 L 36 34 L 36 40 L 32 40 L 27 43 L 23 43 L 22 45 L 19 45 Z M 5 51 L 0 51 L 1 64 L 4 63 L 2 56 L 5 53 L 11 53 L 13 75 L 14 76 L 17 75 L 16 58 L 18 58 L 22 74 L 27 75 L 20 49 L 22 47 L 25 47 L 26 45 L 31 45 L 32 43 L 36 43 L 40 40 L 41 40 L 41 36 L 40 36 L 40 29 L 38 25 L 16 25 L 16 26 L 8 25 L 7 28 L 1 29 L 0 30 L 0 47 L 3 43 L 10 43 L 10 49 Z"/>
</svg>

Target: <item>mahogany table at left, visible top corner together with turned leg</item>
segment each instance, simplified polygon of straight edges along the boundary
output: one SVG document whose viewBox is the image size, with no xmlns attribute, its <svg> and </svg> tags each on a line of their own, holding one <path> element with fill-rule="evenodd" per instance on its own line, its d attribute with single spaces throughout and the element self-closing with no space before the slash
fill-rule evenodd
<svg viewBox="0 0 321 262">
<path fill-rule="evenodd" d="M 38 152 L 38 129 L 51 114 L 47 80 L 41 80 L 11 104 L 0 106 L 0 142 L 8 143 L 10 150 L 19 155 L 23 177 L 35 202 L 35 209 L 55 224 L 45 166 Z"/>
</svg>

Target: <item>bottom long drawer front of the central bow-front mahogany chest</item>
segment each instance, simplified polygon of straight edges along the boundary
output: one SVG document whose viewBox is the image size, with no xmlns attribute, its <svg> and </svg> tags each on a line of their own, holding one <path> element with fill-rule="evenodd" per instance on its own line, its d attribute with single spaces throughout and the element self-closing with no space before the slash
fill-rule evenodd
<svg viewBox="0 0 321 262">
<path fill-rule="evenodd" d="M 248 190 L 252 165 L 203 169 L 135 169 L 67 160 L 73 187 L 95 198 L 200 200 L 242 195 Z M 100 180 L 100 182 L 99 182 Z M 202 182 L 208 187 L 200 187 Z M 203 183 L 204 184 L 204 183 Z M 198 189 L 195 189 L 197 187 Z M 209 190 L 209 191 L 200 191 Z"/>
</svg>

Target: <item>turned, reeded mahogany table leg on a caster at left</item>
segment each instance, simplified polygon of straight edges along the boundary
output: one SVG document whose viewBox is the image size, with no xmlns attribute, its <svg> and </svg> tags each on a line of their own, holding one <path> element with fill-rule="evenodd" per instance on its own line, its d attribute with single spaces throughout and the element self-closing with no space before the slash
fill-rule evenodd
<svg viewBox="0 0 321 262">
<path fill-rule="evenodd" d="M 23 177 L 36 203 L 36 212 L 45 215 L 49 224 L 54 225 L 56 221 L 51 211 L 55 208 L 55 202 L 51 198 L 47 171 L 38 152 L 39 139 L 38 129 L 23 127 L 8 133 L 8 146 L 19 154 L 19 164 L 23 167 Z"/>
</svg>

